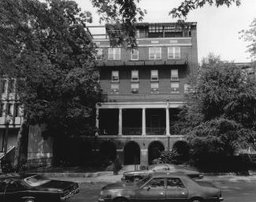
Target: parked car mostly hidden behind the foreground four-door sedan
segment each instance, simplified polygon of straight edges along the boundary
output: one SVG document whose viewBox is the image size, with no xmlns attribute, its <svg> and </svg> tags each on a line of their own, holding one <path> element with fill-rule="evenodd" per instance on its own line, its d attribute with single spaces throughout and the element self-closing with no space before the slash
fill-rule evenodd
<svg viewBox="0 0 256 202">
<path fill-rule="evenodd" d="M 176 166 L 169 163 L 162 163 L 162 164 L 156 164 L 152 167 L 150 167 L 149 170 L 140 170 L 140 171 L 127 171 L 124 172 L 123 177 L 121 178 L 122 181 L 126 182 L 137 182 L 139 179 L 142 179 L 149 174 L 154 174 L 158 172 L 181 172 L 184 174 L 187 174 L 190 178 L 200 179 L 203 178 L 203 175 L 200 174 L 198 171 L 191 171 L 188 169 L 185 169 L 180 166 Z"/>
</svg>

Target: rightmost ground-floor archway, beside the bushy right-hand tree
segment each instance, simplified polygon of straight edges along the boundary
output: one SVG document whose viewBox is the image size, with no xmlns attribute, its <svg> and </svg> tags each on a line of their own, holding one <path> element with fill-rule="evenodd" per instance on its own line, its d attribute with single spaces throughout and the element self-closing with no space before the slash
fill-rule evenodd
<svg viewBox="0 0 256 202">
<path fill-rule="evenodd" d="M 177 161 L 179 163 L 189 160 L 189 145 L 186 141 L 176 141 L 173 145 L 173 151 L 177 152 Z"/>
</svg>

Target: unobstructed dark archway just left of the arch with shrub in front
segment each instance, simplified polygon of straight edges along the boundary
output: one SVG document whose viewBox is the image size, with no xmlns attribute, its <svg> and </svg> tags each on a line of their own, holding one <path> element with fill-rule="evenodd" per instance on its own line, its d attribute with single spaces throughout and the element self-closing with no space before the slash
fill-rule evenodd
<svg viewBox="0 0 256 202">
<path fill-rule="evenodd" d="M 140 148 L 135 141 L 129 141 L 124 146 L 124 165 L 140 163 Z"/>
</svg>

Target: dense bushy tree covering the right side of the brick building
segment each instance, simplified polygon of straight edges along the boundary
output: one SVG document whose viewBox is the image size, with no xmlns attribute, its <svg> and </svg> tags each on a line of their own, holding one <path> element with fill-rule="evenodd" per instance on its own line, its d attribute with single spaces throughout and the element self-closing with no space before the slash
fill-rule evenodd
<svg viewBox="0 0 256 202">
<path fill-rule="evenodd" d="M 176 123 L 181 125 L 180 133 L 187 135 L 191 157 L 232 156 L 248 145 L 256 149 L 254 80 L 236 64 L 208 59 L 217 62 L 204 65 L 191 83 L 193 90 Z"/>
</svg>

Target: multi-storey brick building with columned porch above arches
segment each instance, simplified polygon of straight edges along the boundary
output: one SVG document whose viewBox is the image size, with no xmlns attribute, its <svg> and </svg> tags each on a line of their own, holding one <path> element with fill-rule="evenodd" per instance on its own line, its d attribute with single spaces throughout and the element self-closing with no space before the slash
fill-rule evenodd
<svg viewBox="0 0 256 202">
<path fill-rule="evenodd" d="M 110 47 L 108 35 L 122 32 L 117 25 L 106 25 L 105 39 L 93 39 L 102 54 L 104 101 L 97 106 L 92 147 L 124 164 L 152 163 L 159 151 L 173 147 L 187 155 L 183 137 L 170 127 L 184 105 L 188 76 L 198 68 L 196 23 L 140 23 L 136 29 L 137 50 Z"/>
</svg>

